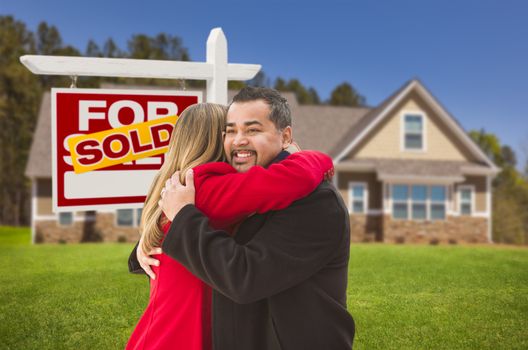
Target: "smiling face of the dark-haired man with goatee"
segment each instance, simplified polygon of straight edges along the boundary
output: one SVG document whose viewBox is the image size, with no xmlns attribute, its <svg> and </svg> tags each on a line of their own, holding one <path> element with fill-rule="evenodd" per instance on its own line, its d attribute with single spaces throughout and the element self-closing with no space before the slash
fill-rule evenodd
<svg viewBox="0 0 528 350">
<path fill-rule="evenodd" d="M 268 166 L 291 143 L 291 127 L 279 131 L 269 119 L 264 100 L 235 102 L 227 112 L 224 148 L 227 161 L 238 172 L 253 165 Z"/>
</svg>

